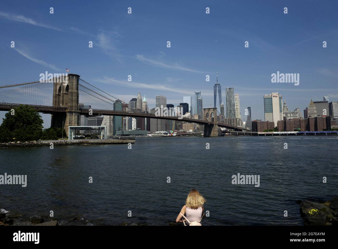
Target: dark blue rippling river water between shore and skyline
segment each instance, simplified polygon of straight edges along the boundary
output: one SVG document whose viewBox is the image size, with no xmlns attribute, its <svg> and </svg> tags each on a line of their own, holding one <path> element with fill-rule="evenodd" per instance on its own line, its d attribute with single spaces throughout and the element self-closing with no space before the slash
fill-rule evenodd
<svg viewBox="0 0 338 249">
<path fill-rule="evenodd" d="M 0 174 L 27 175 L 27 187 L 0 185 L 0 208 L 26 216 L 53 210 L 59 225 L 167 225 L 196 188 L 210 215 L 202 225 L 303 225 L 297 200 L 338 195 L 337 148 L 337 136 L 136 138 L 131 149 L 1 148 Z M 238 173 L 260 175 L 260 186 L 232 184 Z"/>
</svg>

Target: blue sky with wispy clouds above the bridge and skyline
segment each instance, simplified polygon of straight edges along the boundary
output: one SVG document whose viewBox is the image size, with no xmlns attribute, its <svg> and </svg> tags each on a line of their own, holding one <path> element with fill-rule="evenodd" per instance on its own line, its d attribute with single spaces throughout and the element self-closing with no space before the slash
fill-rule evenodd
<svg viewBox="0 0 338 249">
<path fill-rule="evenodd" d="M 251 106 L 252 118 L 264 120 L 263 96 L 272 91 L 292 110 L 324 95 L 338 100 L 337 9 L 337 1 L 6 1 L 0 85 L 69 68 L 125 102 L 140 91 L 149 108 L 155 95 L 176 106 L 201 91 L 206 108 L 218 71 L 222 101 L 234 87 L 242 118 Z M 271 83 L 277 71 L 299 73 L 299 85 Z M 43 118 L 48 127 L 50 115 Z"/>
</svg>

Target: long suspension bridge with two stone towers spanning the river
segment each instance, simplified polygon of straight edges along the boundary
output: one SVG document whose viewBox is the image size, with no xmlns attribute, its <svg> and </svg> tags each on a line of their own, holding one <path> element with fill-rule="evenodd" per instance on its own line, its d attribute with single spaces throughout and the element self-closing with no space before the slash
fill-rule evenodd
<svg viewBox="0 0 338 249">
<path fill-rule="evenodd" d="M 217 108 L 203 108 L 203 119 L 182 118 L 177 116 L 155 116 L 141 109 L 132 108 L 112 95 L 80 79 L 79 75 L 68 74 L 53 78 L 52 82 L 33 81 L 15 85 L 0 86 L 0 110 L 8 111 L 20 104 L 29 105 L 38 112 L 51 115 L 51 127 L 79 126 L 80 115 L 109 115 L 124 117 L 141 117 L 185 121 L 204 125 L 204 136 L 218 136 L 218 126 L 244 130 L 242 127 L 218 122 Z M 80 104 L 79 104 L 80 103 Z M 122 105 L 122 110 L 115 110 L 115 104 Z M 82 108 L 91 106 L 91 109 Z"/>
</svg>

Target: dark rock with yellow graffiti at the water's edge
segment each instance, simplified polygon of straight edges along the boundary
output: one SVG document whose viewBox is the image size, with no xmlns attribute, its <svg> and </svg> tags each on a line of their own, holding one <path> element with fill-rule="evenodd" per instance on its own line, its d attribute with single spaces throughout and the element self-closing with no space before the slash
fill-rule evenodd
<svg viewBox="0 0 338 249">
<path fill-rule="evenodd" d="M 308 200 L 300 203 L 300 215 L 305 217 L 306 225 L 327 226 L 333 220 L 331 208 Z"/>
</svg>

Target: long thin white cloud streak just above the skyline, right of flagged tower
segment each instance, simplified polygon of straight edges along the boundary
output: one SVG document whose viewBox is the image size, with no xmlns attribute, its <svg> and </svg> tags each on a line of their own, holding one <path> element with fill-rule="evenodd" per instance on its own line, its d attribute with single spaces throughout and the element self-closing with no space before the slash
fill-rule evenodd
<svg viewBox="0 0 338 249">
<path fill-rule="evenodd" d="M 108 78 L 108 77 L 103 77 L 103 79 L 96 79 L 95 81 L 100 82 L 100 83 L 105 83 L 105 84 L 117 84 L 117 85 L 122 85 L 122 86 L 127 86 L 127 87 L 132 87 L 132 88 L 145 88 L 145 89 L 152 89 L 152 90 L 161 90 L 163 92 L 176 92 L 179 94 L 185 94 L 185 95 L 191 95 L 193 94 L 193 91 L 190 89 L 177 89 L 175 87 L 171 86 L 166 86 L 162 84 L 146 84 L 146 83 L 140 83 L 140 82 L 129 82 L 127 80 L 117 80 L 115 78 Z M 203 91 L 203 95 L 209 95 L 213 96 L 212 91 Z"/>
</svg>

